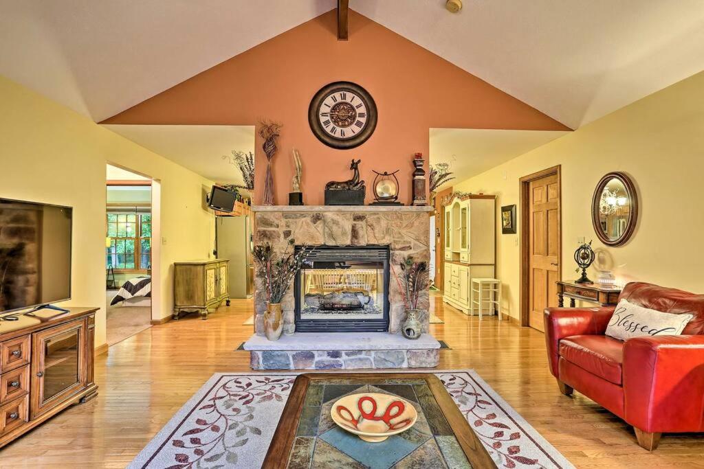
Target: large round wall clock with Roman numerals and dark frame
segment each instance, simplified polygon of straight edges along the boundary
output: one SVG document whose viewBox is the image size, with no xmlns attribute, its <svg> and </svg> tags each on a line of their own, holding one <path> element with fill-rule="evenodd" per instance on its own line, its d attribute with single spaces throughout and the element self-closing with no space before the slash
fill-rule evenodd
<svg viewBox="0 0 704 469">
<path fill-rule="evenodd" d="M 332 148 L 355 148 L 377 127 L 377 105 L 358 84 L 334 82 L 323 86 L 308 107 L 308 123 L 318 140 Z"/>
</svg>

